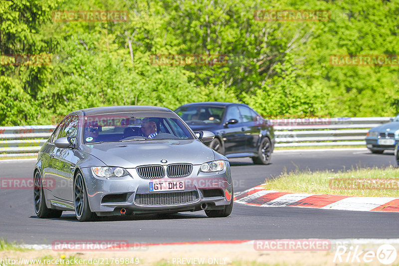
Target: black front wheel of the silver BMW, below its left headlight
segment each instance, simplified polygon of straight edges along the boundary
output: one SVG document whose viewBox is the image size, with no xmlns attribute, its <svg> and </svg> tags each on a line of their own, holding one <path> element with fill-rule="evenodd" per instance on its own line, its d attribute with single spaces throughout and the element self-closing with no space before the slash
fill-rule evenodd
<svg viewBox="0 0 399 266">
<path fill-rule="evenodd" d="M 95 213 L 90 211 L 83 176 L 80 172 L 76 174 L 75 181 L 73 183 L 76 218 L 80 222 L 92 221 L 95 217 Z"/>
</svg>

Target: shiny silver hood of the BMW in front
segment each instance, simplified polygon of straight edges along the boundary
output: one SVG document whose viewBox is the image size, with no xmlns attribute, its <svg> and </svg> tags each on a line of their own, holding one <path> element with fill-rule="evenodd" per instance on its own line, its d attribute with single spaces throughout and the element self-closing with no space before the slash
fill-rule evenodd
<svg viewBox="0 0 399 266">
<path fill-rule="evenodd" d="M 197 139 L 135 140 L 81 145 L 81 149 L 109 166 L 133 168 L 146 164 L 202 164 L 214 160 L 213 150 Z"/>
</svg>

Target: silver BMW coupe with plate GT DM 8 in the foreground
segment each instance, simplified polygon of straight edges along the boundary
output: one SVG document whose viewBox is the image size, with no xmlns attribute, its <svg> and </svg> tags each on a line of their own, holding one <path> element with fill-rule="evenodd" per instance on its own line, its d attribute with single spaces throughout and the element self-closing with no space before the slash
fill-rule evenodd
<svg viewBox="0 0 399 266">
<path fill-rule="evenodd" d="M 161 107 L 114 106 L 71 112 L 41 147 L 33 169 L 34 211 L 57 218 L 204 210 L 226 217 L 233 206 L 230 165 Z"/>
</svg>

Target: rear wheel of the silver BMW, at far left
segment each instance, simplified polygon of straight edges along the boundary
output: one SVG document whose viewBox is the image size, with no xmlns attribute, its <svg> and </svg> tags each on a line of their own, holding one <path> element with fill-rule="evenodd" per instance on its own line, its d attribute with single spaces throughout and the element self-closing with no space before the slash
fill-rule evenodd
<svg viewBox="0 0 399 266">
<path fill-rule="evenodd" d="M 62 215 L 60 210 L 47 208 L 39 171 L 35 172 L 33 179 L 33 205 L 39 218 L 58 218 Z"/>
</svg>

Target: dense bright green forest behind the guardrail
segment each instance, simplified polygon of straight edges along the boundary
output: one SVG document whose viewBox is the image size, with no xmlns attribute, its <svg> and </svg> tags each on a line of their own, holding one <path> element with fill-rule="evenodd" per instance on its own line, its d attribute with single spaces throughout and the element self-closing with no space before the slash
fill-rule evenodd
<svg viewBox="0 0 399 266">
<path fill-rule="evenodd" d="M 258 9 L 326 9 L 328 21 L 259 21 Z M 54 10 L 125 10 L 127 21 L 53 21 Z M 267 118 L 394 116 L 398 66 L 332 66 L 331 55 L 399 54 L 398 0 L 0 0 L 0 126 L 55 124 L 108 105 L 250 105 Z M 155 54 L 223 54 L 163 66 Z"/>
</svg>

